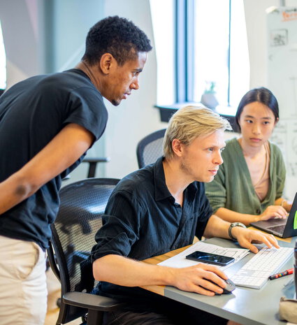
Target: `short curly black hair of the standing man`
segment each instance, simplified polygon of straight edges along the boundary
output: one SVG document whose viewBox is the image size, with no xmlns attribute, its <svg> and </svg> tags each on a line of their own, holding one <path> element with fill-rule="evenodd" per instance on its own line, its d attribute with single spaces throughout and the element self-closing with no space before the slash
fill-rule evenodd
<svg viewBox="0 0 297 325">
<path fill-rule="evenodd" d="M 138 52 L 152 50 L 150 40 L 133 22 L 119 16 L 106 17 L 94 24 L 86 39 L 82 60 L 94 65 L 104 53 L 110 53 L 122 66 L 135 59 Z"/>
</svg>

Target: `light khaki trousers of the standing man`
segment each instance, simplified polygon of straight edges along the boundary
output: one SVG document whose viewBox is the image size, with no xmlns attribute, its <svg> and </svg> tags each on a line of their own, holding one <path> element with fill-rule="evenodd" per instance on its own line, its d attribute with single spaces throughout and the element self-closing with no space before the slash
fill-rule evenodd
<svg viewBox="0 0 297 325">
<path fill-rule="evenodd" d="M 47 296 L 45 252 L 0 236 L 0 325 L 43 325 Z"/>
</svg>

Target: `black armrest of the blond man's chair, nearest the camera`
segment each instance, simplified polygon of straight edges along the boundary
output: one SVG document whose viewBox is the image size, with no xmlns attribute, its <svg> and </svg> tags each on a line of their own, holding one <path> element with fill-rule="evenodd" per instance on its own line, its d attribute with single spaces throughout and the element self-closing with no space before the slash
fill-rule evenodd
<svg viewBox="0 0 297 325">
<path fill-rule="evenodd" d="M 86 294 L 78 291 L 67 292 L 63 296 L 63 301 L 67 305 L 104 312 L 117 310 L 119 306 L 124 305 L 124 303 L 119 303 L 119 301 L 113 298 L 98 296 L 96 294 Z"/>
</svg>

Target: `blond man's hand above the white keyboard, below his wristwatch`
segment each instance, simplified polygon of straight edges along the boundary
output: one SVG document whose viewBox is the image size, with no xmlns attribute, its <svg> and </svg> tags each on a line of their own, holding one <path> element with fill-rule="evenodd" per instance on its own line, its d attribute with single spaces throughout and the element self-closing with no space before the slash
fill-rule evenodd
<svg viewBox="0 0 297 325">
<path fill-rule="evenodd" d="M 269 233 L 263 233 L 261 231 L 244 229 L 242 227 L 234 227 L 232 230 L 233 236 L 238 240 L 241 247 L 245 247 L 253 253 L 257 253 L 259 250 L 254 246 L 254 244 L 265 244 L 269 248 L 276 247 L 280 248 L 275 239 L 275 236 Z"/>
</svg>

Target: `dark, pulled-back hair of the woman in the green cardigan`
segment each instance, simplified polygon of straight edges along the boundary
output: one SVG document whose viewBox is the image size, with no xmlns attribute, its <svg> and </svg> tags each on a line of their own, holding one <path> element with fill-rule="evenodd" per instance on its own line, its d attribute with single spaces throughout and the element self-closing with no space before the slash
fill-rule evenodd
<svg viewBox="0 0 297 325">
<path fill-rule="evenodd" d="M 254 88 L 249 90 L 249 92 L 247 92 L 245 96 L 242 97 L 238 105 L 238 109 L 235 115 L 235 124 L 236 127 L 238 127 L 238 130 L 241 130 L 239 120 L 243 108 L 245 108 L 245 106 L 247 106 L 249 103 L 254 103 L 254 101 L 258 101 L 259 103 L 262 103 L 263 105 L 270 108 L 270 110 L 273 111 L 273 115 L 275 115 L 275 121 L 279 119 L 280 113 L 275 95 L 265 87 Z"/>
</svg>

